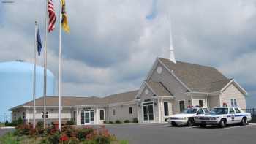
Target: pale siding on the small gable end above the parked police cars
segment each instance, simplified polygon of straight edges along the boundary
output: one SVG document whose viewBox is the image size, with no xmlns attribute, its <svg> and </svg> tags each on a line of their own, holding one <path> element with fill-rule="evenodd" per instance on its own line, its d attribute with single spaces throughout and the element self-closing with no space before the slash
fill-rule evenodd
<svg viewBox="0 0 256 144">
<path fill-rule="evenodd" d="M 227 106 L 231 106 L 230 99 L 236 99 L 238 107 L 241 109 L 246 109 L 246 100 L 244 94 L 233 85 L 233 83 L 228 86 L 225 91 L 220 95 L 220 105 L 227 103 Z"/>
</svg>

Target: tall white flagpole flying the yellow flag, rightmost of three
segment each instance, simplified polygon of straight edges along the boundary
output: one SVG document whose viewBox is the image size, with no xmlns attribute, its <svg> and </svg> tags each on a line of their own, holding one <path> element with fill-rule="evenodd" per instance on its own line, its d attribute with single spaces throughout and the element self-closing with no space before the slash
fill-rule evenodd
<svg viewBox="0 0 256 144">
<path fill-rule="evenodd" d="M 62 4 L 60 2 L 59 9 L 59 130 L 61 131 L 61 11 Z"/>
</svg>

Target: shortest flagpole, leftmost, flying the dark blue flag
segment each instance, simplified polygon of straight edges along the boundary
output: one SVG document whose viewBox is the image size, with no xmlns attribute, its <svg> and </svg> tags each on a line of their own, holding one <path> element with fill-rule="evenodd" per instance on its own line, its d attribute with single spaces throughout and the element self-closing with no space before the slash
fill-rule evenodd
<svg viewBox="0 0 256 144">
<path fill-rule="evenodd" d="M 37 21 L 34 25 L 34 78 L 33 78 L 33 129 L 36 127 L 36 66 L 37 66 Z"/>
</svg>

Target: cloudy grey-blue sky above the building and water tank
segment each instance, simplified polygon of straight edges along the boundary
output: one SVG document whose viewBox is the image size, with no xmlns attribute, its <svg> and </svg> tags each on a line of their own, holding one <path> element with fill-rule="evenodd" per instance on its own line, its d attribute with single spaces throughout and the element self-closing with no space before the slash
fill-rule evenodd
<svg viewBox="0 0 256 144">
<path fill-rule="evenodd" d="M 44 41 L 45 0 L 12 1 L 0 4 L 0 61 L 32 61 L 34 20 Z M 255 106 L 256 0 L 67 0 L 71 32 L 62 34 L 63 94 L 140 88 L 154 60 L 168 56 L 168 12 L 177 60 L 235 77 Z M 57 29 L 48 37 L 48 68 L 57 77 Z"/>
</svg>

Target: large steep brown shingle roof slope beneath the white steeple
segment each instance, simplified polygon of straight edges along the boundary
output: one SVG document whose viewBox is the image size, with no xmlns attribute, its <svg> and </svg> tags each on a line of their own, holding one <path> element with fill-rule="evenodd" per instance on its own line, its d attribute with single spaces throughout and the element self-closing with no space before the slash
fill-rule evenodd
<svg viewBox="0 0 256 144">
<path fill-rule="evenodd" d="M 165 58 L 158 58 L 167 69 L 170 69 L 191 91 L 213 92 L 220 91 L 228 83 L 221 72 L 214 67 L 189 64 L 176 61 L 176 64 Z M 223 86 L 223 87 L 222 87 Z"/>
</svg>

